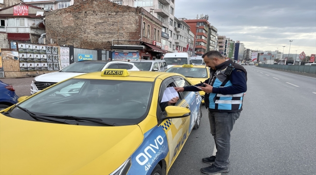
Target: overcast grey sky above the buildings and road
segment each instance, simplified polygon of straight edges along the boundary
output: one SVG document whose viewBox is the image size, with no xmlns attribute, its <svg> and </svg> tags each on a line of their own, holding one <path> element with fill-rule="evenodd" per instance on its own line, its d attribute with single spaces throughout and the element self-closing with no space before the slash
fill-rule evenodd
<svg viewBox="0 0 316 175">
<path fill-rule="evenodd" d="M 316 0 L 175 0 L 176 18 L 209 15 L 219 35 L 247 49 L 316 53 Z"/>
</svg>

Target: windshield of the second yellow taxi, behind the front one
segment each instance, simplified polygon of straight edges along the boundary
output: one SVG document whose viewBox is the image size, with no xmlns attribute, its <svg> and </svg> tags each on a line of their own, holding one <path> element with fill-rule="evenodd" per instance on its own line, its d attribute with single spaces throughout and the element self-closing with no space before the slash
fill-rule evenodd
<svg viewBox="0 0 316 175">
<path fill-rule="evenodd" d="M 182 68 L 182 67 L 171 67 L 166 72 L 174 72 L 182 74 L 183 76 L 190 78 L 208 78 L 206 68 Z"/>
</svg>

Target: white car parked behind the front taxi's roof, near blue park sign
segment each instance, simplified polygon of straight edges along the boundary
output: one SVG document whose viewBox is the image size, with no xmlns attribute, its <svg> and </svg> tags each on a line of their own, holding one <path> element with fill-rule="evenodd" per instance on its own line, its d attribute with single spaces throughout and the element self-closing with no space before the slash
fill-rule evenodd
<svg viewBox="0 0 316 175">
<path fill-rule="evenodd" d="M 126 61 L 79 61 L 72 63 L 58 72 L 46 73 L 36 76 L 31 83 L 31 94 L 48 88 L 58 82 L 84 73 L 103 71 L 105 69 L 126 69 L 140 71 L 134 63 Z"/>
</svg>

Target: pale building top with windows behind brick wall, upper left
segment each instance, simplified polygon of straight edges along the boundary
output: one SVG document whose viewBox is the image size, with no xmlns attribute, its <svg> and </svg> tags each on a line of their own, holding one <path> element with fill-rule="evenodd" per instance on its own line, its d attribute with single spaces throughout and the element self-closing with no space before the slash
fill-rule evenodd
<svg viewBox="0 0 316 175">
<path fill-rule="evenodd" d="M 48 10 L 57 10 L 62 8 L 67 8 L 70 5 L 73 5 L 73 0 L 40 0 L 40 1 L 31 1 L 25 2 L 33 6 L 41 7 Z"/>
</svg>

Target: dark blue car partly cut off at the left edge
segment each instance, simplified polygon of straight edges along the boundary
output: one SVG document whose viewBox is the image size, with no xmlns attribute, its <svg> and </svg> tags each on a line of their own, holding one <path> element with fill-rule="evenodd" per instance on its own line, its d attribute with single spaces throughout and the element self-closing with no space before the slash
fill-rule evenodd
<svg viewBox="0 0 316 175">
<path fill-rule="evenodd" d="M 0 80 L 0 111 L 18 103 L 15 89 Z"/>
</svg>

